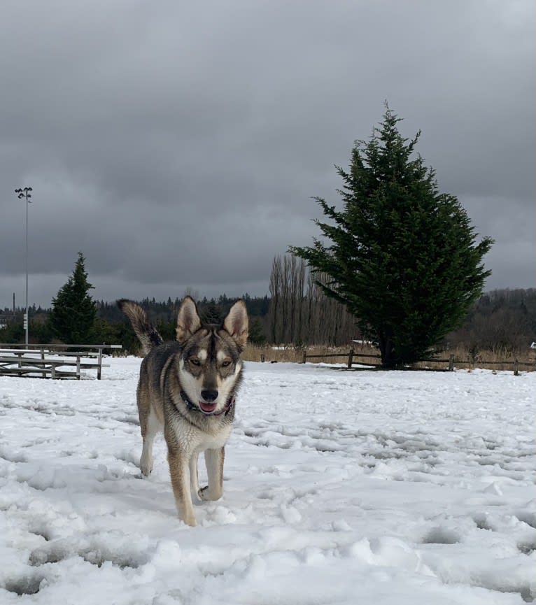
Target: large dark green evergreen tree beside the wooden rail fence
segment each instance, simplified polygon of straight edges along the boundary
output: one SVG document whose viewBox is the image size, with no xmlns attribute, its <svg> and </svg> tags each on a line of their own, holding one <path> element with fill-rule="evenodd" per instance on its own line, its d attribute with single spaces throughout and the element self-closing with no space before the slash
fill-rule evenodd
<svg viewBox="0 0 536 605">
<path fill-rule="evenodd" d="M 458 199 L 412 158 L 420 132 L 409 141 L 398 122 L 386 106 L 370 140 L 355 142 L 349 171 L 336 166 L 341 211 L 315 198 L 331 221 L 316 220 L 330 245 L 290 247 L 330 276 L 318 285 L 347 306 L 388 368 L 422 359 L 460 325 L 491 273 L 481 261 L 493 244 L 476 243 Z"/>
</svg>

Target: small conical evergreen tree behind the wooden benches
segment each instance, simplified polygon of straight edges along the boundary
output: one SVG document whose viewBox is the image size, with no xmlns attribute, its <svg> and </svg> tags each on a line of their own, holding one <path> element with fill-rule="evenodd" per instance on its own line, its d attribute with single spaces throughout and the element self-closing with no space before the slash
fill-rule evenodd
<svg viewBox="0 0 536 605">
<path fill-rule="evenodd" d="M 97 307 L 90 297 L 93 286 L 87 281 L 85 258 L 78 252 L 78 260 L 71 277 L 55 298 L 48 322 L 55 337 L 69 344 L 91 344 Z"/>
</svg>

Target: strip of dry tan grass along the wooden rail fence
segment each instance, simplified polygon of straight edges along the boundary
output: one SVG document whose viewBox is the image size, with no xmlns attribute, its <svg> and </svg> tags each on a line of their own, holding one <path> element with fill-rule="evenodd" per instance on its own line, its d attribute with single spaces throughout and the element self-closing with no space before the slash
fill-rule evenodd
<svg viewBox="0 0 536 605">
<path fill-rule="evenodd" d="M 270 346 L 255 346 L 248 345 L 244 350 L 244 360 L 275 363 L 275 362 L 290 362 L 301 363 L 303 361 L 304 351 L 307 355 L 307 362 L 311 363 L 327 363 L 327 364 L 346 364 L 348 362 L 349 346 L 346 347 L 327 347 L 327 346 L 308 346 L 306 348 L 295 348 L 292 345 L 272 348 Z M 330 355 L 338 354 L 339 357 Z M 322 357 L 314 357 L 309 359 L 311 355 L 322 355 Z M 353 364 L 374 364 L 380 363 L 378 357 L 379 350 L 371 346 L 355 346 Z M 514 370 L 514 362 L 519 361 L 519 371 L 535 371 L 536 370 L 536 351 L 528 350 L 526 354 L 509 353 L 507 350 L 482 351 L 477 355 L 471 355 L 467 348 L 458 347 L 453 350 L 444 350 L 435 357 L 438 361 L 423 361 L 415 364 L 415 368 L 419 369 L 447 369 L 449 366 L 449 357 L 454 356 L 454 367 L 474 369 L 493 369 L 493 370 Z M 529 365 L 522 365 L 529 364 Z"/>
</svg>

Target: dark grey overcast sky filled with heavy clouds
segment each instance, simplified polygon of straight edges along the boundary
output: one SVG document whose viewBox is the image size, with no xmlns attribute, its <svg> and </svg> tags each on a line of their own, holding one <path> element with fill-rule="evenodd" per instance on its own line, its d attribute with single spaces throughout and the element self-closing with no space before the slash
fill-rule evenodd
<svg viewBox="0 0 536 605">
<path fill-rule="evenodd" d="M 536 286 L 534 0 L 3 0 L 0 307 L 268 291 L 339 203 L 388 100 L 481 235 L 486 290 Z"/>
</svg>

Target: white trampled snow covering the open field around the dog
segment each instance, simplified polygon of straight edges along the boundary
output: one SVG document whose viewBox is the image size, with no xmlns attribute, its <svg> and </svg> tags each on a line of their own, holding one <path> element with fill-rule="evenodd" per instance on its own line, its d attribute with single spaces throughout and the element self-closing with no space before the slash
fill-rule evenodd
<svg viewBox="0 0 536 605">
<path fill-rule="evenodd" d="M 536 373 L 248 363 L 223 499 L 190 528 L 163 439 L 136 466 L 139 360 L 110 362 L 0 378 L 0 603 L 536 598 Z"/>
</svg>

